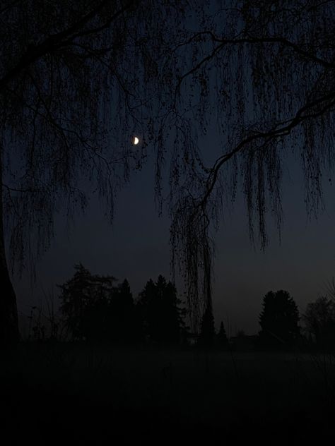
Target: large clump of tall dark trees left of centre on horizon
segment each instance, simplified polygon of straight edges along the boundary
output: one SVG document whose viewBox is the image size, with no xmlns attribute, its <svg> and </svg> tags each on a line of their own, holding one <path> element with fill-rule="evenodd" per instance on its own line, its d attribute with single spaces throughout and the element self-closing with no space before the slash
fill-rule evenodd
<svg viewBox="0 0 335 446">
<path fill-rule="evenodd" d="M 171 282 L 148 280 L 136 301 L 127 279 L 92 275 L 83 265 L 61 290 L 61 314 L 74 341 L 179 344 L 187 333 L 186 309 Z"/>
</svg>

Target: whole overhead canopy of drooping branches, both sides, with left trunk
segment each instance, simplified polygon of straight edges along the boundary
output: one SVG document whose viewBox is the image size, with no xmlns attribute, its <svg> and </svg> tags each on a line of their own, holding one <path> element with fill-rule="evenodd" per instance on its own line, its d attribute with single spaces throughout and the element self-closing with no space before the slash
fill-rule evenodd
<svg viewBox="0 0 335 446">
<path fill-rule="evenodd" d="M 112 217 L 117 189 L 149 149 L 196 326 L 211 302 L 211 231 L 239 180 L 262 247 L 268 212 L 281 227 L 290 150 L 305 173 L 307 210 L 322 203 L 322 172 L 334 166 L 334 2 L 64 5 L 1 2 L 1 339 L 18 337 L 3 222 L 9 258 L 26 267 L 47 248 L 61 205 L 70 217 L 85 208 L 87 180 Z M 221 147 L 208 155 L 201 138 L 213 122 Z"/>
</svg>

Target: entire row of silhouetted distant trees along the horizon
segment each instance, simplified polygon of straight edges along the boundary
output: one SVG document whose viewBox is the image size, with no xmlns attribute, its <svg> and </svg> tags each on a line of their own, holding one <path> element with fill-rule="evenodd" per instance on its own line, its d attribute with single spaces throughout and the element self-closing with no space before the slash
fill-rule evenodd
<svg viewBox="0 0 335 446">
<path fill-rule="evenodd" d="M 213 307 L 208 304 L 201 318 L 199 334 L 189 332 L 187 310 L 177 297 L 177 289 L 162 275 L 156 282 L 149 279 L 134 299 L 129 282 L 117 284 L 113 276 L 93 275 L 75 265 L 73 277 L 58 285 L 60 320 L 47 318 L 51 329 L 49 339 L 60 338 L 81 342 L 117 345 L 151 344 L 158 346 L 193 344 L 201 349 L 292 349 L 307 346 L 313 349 L 335 349 L 334 296 L 320 296 L 308 303 L 300 318 L 298 306 L 288 291 L 269 291 L 262 300 L 259 315 L 261 330 L 247 336 L 239 330 L 228 337 L 223 321 L 216 332 Z M 335 290 L 335 284 L 334 284 Z M 30 333 L 35 340 L 47 337 L 42 311 L 33 307 L 35 323 L 30 314 Z M 300 320 L 305 327 L 300 327 Z"/>
</svg>

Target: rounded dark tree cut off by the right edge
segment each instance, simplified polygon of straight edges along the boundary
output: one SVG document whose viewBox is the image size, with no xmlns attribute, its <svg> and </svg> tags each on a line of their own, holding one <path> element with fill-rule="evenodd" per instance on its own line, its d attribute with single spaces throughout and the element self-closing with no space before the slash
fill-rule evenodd
<svg viewBox="0 0 335 446">
<path fill-rule="evenodd" d="M 306 330 L 313 335 L 319 348 L 335 348 L 335 303 L 326 296 L 308 303 L 305 314 Z"/>
</svg>

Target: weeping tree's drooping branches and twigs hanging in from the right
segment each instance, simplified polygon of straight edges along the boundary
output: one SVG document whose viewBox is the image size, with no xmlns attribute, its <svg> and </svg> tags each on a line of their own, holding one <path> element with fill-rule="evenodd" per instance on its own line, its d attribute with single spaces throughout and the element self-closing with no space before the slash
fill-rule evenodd
<svg viewBox="0 0 335 446">
<path fill-rule="evenodd" d="M 170 209 L 172 252 L 192 308 L 202 303 L 206 311 L 213 234 L 240 185 L 250 239 L 261 248 L 269 214 L 281 230 L 283 162 L 292 153 L 307 212 L 317 215 L 322 205 L 322 174 L 334 171 L 335 4 L 213 1 L 204 15 L 175 47 Z M 216 156 L 196 148 L 213 127 L 221 138 Z"/>
</svg>

